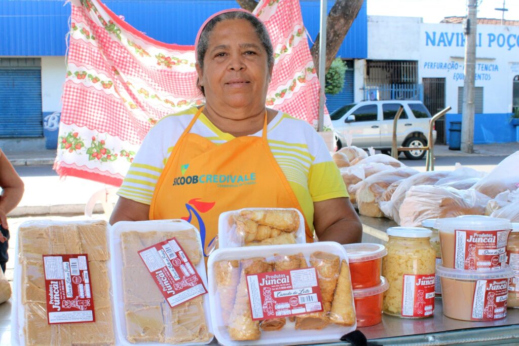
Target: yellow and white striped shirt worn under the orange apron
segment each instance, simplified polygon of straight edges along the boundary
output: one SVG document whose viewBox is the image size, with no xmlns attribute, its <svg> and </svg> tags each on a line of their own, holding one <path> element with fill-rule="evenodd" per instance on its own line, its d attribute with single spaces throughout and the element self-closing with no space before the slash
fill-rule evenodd
<svg viewBox="0 0 519 346">
<path fill-rule="evenodd" d="M 117 194 L 133 201 L 151 204 L 155 185 L 173 147 L 192 121 L 197 109 L 162 118 L 144 139 Z M 222 132 L 202 113 L 190 133 L 216 145 L 235 137 Z M 262 136 L 262 131 L 251 136 Z M 313 203 L 348 197 L 340 172 L 332 161 L 321 136 L 306 122 L 278 112 L 268 124 L 270 150 L 297 197 L 308 225 L 313 230 Z"/>
</svg>

